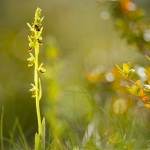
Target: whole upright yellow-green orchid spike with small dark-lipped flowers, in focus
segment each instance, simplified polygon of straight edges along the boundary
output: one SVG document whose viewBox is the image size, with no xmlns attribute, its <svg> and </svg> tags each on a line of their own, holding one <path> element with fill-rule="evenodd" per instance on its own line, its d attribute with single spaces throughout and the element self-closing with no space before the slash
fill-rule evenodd
<svg viewBox="0 0 150 150">
<path fill-rule="evenodd" d="M 28 60 L 28 67 L 34 66 L 34 84 L 31 84 L 32 88 L 32 97 L 36 101 L 36 113 L 38 120 L 38 133 L 35 134 L 35 150 L 44 150 L 45 149 L 45 118 L 41 121 L 40 114 L 40 99 L 42 97 L 42 86 L 39 78 L 39 72 L 45 73 L 46 69 L 43 67 L 43 63 L 39 65 L 39 46 L 42 44 L 42 21 L 44 17 L 41 16 L 41 9 L 37 8 L 34 17 L 34 23 L 30 25 L 27 23 L 31 30 L 31 35 L 28 36 L 29 39 L 29 54 L 30 57 Z M 32 50 L 34 49 L 34 54 Z"/>
</svg>

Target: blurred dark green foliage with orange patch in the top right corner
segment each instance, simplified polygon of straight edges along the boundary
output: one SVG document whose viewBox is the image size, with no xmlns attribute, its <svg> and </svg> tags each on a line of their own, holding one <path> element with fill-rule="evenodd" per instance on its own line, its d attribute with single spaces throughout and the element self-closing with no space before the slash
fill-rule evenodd
<svg viewBox="0 0 150 150">
<path fill-rule="evenodd" d="M 145 12 L 137 6 L 134 0 L 99 0 L 99 2 L 109 6 L 121 37 L 125 38 L 129 44 L 135 45 L 141 53 L 148 55 L 150 22 L 146 19 Z"/>
</svg>

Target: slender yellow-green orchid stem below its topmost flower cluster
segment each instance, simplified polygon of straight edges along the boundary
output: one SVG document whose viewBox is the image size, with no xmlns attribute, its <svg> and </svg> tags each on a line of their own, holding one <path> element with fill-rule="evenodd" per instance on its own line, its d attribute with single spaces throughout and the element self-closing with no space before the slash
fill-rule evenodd
<svg viewBox="0 0 150 150">
<path fill-rule="evenodd" d="M 40 104 L 39 104 L 39 79 L 38 79 L 38 54 L 39 54 L 39 43 L 36 41 L 35 47 L 35 70 L 34 70 L 34 82 L 36 87 L 36 113 L 38 120 L 38 133 L 42 135 L 42 124 L 41 124 L 41 114 L 40 114 Z"/>
</svg>

